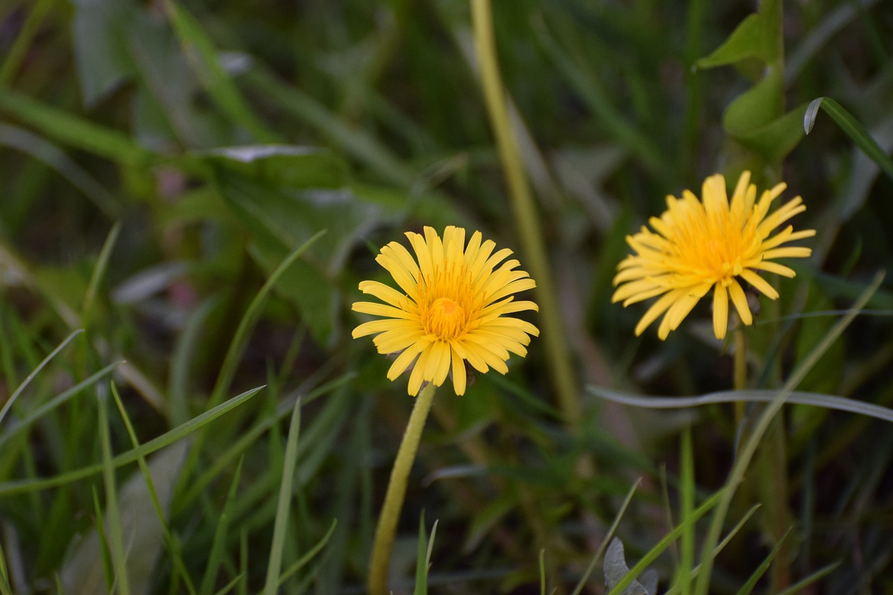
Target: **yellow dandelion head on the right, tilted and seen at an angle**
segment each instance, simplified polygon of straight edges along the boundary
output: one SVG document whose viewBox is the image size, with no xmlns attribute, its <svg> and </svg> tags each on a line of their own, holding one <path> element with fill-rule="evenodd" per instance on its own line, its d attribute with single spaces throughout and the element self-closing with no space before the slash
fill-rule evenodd
<svg viewBox="0 0 893 595">
<path fill-rule="evenodd" d="M 742 323 L 753 323 L 750 306 L 739 278 L 771 299 L 778 298 L 757 271 L 777 272 L 793 277 L 787 266 L 773 258 L 803 258 L 812 254 L 807 247 L 780 247 L 782 244 L 815 235 L 815 230 L 794 231 L 789 225 L 769 237 L 781 223 L 806 210 L 800 197 L 789 200 L 772 214 L 769 205 L 787 188 L 784 183 L 764 190 L 756 202 L 756 186 L 750 172 L 744 172 L 735 187 L 731 203 L 725 179 L 715 174 L 704 180 L 701 202 L 689 190 L 681 198 L 667 197 L 667 210 L 660 219 L 648 223 L 656 231 L 642 230 L 627 236 L 635 251 L 617 265 L 612 301 L 629 306 L 661 296 L 636 326 L 639 335 L 663 313 L 657 335 L 666 339 L 700 298 L 714 289 L 714 333 L 725 337 L 729 324 L 729 297 Z"/>
</svg>

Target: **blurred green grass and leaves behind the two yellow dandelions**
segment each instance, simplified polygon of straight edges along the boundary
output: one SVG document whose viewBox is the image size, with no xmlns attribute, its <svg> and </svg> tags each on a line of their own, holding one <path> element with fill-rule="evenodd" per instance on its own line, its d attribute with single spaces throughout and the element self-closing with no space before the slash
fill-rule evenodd
<svg viewBox="0 0 893 595">
<path fill-rule="evenodd" d="M 893 263 L 893 6 L 764 2 L 723 57 L 752 4 L 492 4 L 580 386 L 730 388 L 707 306 L 665 342 L 636 338 L 644 310 L 611 305 L 611 280 L 667 194 L 750 168 L 802 195 L 794 223 L 818 230 L 748 329 L 751 386 L 779 388 Z M 16 397 L 0 591 L 363 591 L 412 400 L 350 339 L 357 282 L 385 281 L 379 247 L 425 224 L 482 230 L 525 262 L 474 47 L 460 0 L 0 4 L 0 398 Z M 822 96 L 855 128 L 820 112 L 804 136 Z M 891 312 L 886 281 L 798 390 L 893 404 Z M 580 390 L 567 420 L 542 341 L 511 365 L 463 398 L 439 391 L 396 592 L 413 591 L 422 511 L 429 534 L 438 520 L 431 591 L 540 592 L 542 577 L 598 593 L 639 479 L 616 530 L 630 566 L 686 493 L 700 504 L 725 481 L 731 406 L 655 413 Z M 751 589 L 798 591 L 836 565 L 803 592 L 893 590 L 889 425 L 809 406 L 778 420 L 727 528 L 763 506 L 710 592 L 742 592 L 779 543 Z M 686 559 L 657 558 L 659 592 Z"/>
</svg>

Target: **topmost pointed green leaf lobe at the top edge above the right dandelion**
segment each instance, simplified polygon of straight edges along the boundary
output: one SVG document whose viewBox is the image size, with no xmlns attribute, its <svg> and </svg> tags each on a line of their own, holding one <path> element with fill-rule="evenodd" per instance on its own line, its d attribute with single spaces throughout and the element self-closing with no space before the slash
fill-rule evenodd
<svg viewBox="0 0 893 595">
<path fill-rule="evenodd" d="M 782 57 L 781 0 L 764 0 L 759 13 L 748 15 L 732 34 L 717 47 L 695 63 L 697 68 L 714 68 L 756 58 L 772 64 Z"/>
</svg>

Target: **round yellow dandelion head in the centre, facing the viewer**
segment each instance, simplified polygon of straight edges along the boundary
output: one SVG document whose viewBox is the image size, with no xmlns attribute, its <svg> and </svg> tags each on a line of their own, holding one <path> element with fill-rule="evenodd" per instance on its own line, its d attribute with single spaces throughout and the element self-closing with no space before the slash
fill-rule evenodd
<svg viewBox="0 0 893 595">
<path fill-rule="evenodd" d="M 379 353 L 400 354 L 388 370 L 389 380 L 415 362 L 410 395 L 419 392 L 422 381 L 440 386 L 451 368 L 455 394 L 462 395 L 465 362 L 480 373 L 491 367 L 506 373 L 510 351 L 527 355 L 524 346 L 530 344 L 530 335 L 539 334 L 537 327 L 505 314 L 538 310 L 533 302 L 514 301 L 512 295 L 536 283 L 527 272 L 514 270 L 517 260 L 499 264 L 512 251 L 494 253 L 496 243 L 481 242 L 480 231 L 472 234 L 468 246 L 461 227 L 448 226 L 442 240 L 433 228 L 424 231 L 424 236 L 406 232 L 415 258 L 397 242 L 381 248 L 375 260 L 402 292 L 379 281 L 360 283 L 363 293 L 385 303 L 356 302 L 353 309 L 384 318 L 360 324 L 353 336 L 374 334 Z"/>
</svg>

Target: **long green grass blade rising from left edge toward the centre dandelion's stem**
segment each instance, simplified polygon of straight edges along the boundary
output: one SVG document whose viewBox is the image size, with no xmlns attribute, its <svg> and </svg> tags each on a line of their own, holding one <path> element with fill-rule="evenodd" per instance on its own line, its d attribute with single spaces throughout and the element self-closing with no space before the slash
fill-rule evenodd
<svg viewBox="0 0 893 595">
<path fill-rule="evenodd" d="M 230 400 L 224 403 L 221 403 L 221 405 L 218 405 L 209 411 L 205 411 L 204 414 L 194 417 L 187 423 L 182 423 L 173 430 L 164 432 L 161 436 L 155 438 L 154 440 L 149 440 L 139 448 L 132 448 L 126 452 L 122 452 L 120 455 L 112 459 L 113 467 L 117 468 L 123 465 L 128 465 L 129 463 L 133 463 L 134 461 L 138 460 L 139 457 L 146 457 L 147 455 L 154 453 L 156 450 L 160 450 L 170 444 L 173 444 L 177 440 L 180 440 L 188 436 L 192 432 L 195 432 L 196 430 L 204 427 L 208 423 L 213 422 L 213 420 L 227 413 L 228 411 L 230 411 L 230 409 L 242 405 L 246 402 L 246 400 L 254 397 L 262 389 L 263 386 L 259 386 L 256 389 L 246 390 L 242 394 L 230 398 Z M 21 494 L 30 491 L 55 488 L 60 485 L 65 485 L 66 483 L 76 482 L 80 479 L 84 479 L 85 477 L 91 477 L 93 475 L 96 475 L 97 473 L 102 473 L 102 471 L 103 465 L 97 464 L 81 467 L 80 469 L 77 469 L 75 471 L 54 475 L 53 477 L 45 477 L 36 480 L 0 482 L 0 496 L 8 496 L 11 494 Z"/>
</svg>

